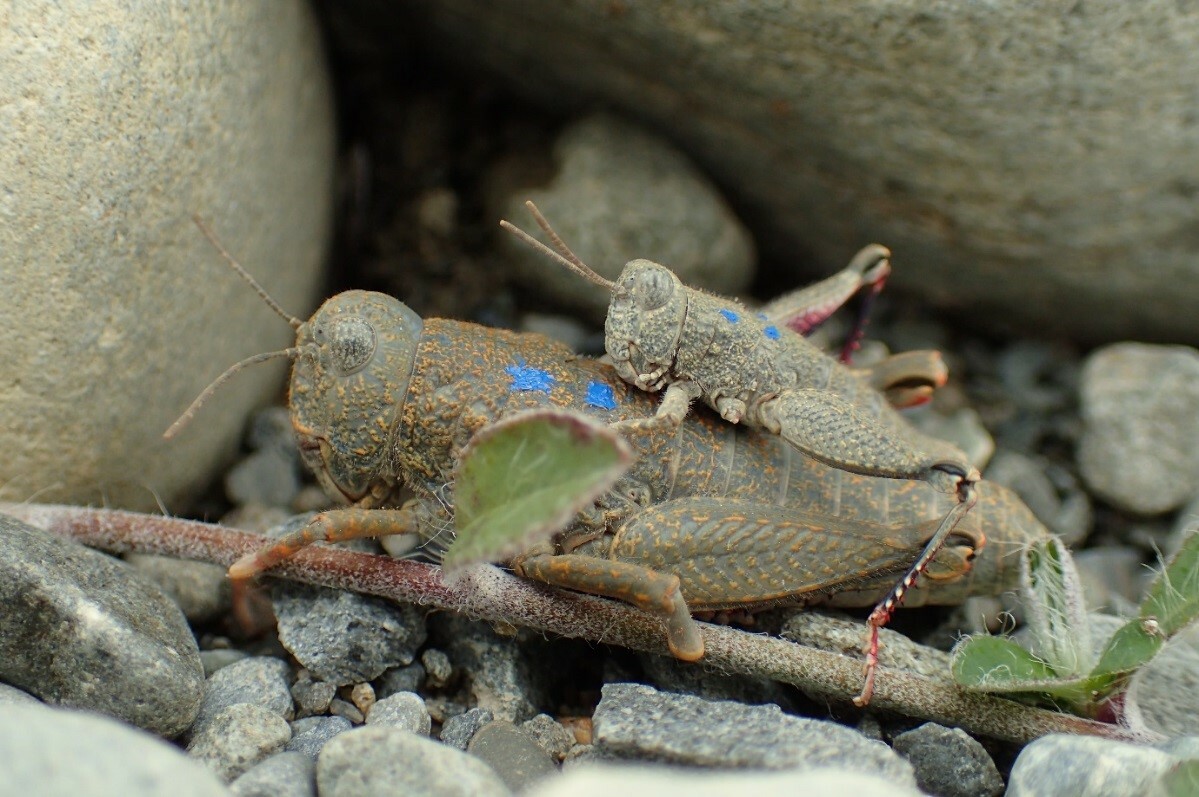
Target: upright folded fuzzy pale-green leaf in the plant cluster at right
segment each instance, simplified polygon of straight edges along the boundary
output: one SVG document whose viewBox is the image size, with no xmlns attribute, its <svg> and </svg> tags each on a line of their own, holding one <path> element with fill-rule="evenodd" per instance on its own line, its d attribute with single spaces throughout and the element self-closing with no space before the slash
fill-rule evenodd
<svg viewBox="0 0 1199 797">
<path fill-rule="evenodd" d="M 1030 545 L 1022 586 L 1032 651 L 1062 678 L 1090 671 L 1095 652 L 1081 581 L 1073 557 L 1056 537 Z"/>
</svg>

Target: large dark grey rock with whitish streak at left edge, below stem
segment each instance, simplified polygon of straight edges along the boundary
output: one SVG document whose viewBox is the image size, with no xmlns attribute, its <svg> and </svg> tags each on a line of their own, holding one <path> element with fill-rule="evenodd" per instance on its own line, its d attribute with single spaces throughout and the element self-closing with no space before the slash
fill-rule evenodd
<svg viewBox="0 0 1199 797">
<path fill-rule="evenodd" d="M 163 736 L 195 718 L 195 639 L 123 562 L 0 515 L 0 680 Z"/>
</svg>

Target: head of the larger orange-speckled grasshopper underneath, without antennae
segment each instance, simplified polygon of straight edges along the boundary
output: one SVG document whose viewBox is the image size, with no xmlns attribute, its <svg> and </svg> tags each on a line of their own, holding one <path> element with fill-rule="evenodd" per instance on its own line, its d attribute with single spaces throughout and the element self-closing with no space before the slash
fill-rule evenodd
<svg viewBox="0 0 1199 797">
<path fill-rule="evenodd" d="M 300 325 L 291 425 L 321 487 L 380 501 L 397 482 L 391 429 L 412 374 L 421 316 L 385 294 L 345 291 Z"/>
</svg>

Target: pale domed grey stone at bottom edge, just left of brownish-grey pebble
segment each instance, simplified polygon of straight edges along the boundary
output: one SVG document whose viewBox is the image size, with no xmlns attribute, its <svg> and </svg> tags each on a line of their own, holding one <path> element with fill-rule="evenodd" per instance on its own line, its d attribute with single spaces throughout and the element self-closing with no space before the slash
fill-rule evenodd
<svg viewBox="0 0 1199 797">
<path fill-rule="evenodd" d="M 321 797 L 507 797 L 512 792 L 478 759 L 384 725 L 357 727 L 331 741 L 317 760 Z"/>
</svg>

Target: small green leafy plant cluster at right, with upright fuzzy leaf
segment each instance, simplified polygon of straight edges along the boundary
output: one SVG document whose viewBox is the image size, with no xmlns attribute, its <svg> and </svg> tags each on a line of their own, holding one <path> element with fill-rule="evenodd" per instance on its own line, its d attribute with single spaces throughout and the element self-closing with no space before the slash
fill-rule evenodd
<svg viewBox="0 0 1199 797">
<path fill-rule="evenodd" d="M 953 652 L 953 677 L 968 689 L 1028 696 L 1085 717 L 1113 713 L 1107 708 L 1129 676 L 1199 615 L 1199 530 L 1153 579 L 1137 616 L 1098 653 L 1070 553 L 1048 539 L 1025 555 L 1022 594 L 1031 641 L 965 640 Z"/>
</svg>

